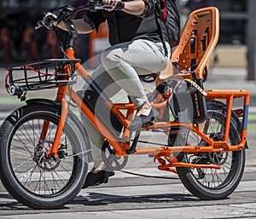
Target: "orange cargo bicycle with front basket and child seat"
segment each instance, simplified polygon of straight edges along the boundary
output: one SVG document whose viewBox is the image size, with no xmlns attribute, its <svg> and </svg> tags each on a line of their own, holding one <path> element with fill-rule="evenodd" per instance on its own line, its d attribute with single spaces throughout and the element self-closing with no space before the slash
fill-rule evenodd
<svg viewBox="0 0 256 219">
<path fill-rule="evenodd" d="M 57 20 L 43 20 L 55 32 L 55 22 L 68 30 L 65 59 L 8 66 L 6 88 L 21 100 L 26 92 L 58 88 L 55 100 L 31 99 L 5 119 L 0 130 L 0 176 L 4 187 L 20 203 L 35 209 L 60 208 L 84 185 L 90 160 L 90 141 L 77 114 L 78 107 L 106 141 L 102 158 L 108 169 L 121 170 L 129 156 L 148 154 L 158 169 L 177 173 L 190 193 L 200 199 L 224 199 L 241 181 L 247 148 L 249 93 L 244 90 L 204 90 L 207 68 L 218 42 L 219 16 L 214 7 L 189 15 L 170 66 L 160 72 L 148 100 L 159 110 L 155 124 L 131 133 L 135 107 L 113 103 L 93 83 L 74 57 L 77 32 L 71 19 L 82 9 L 102 9 L 90 3 L 73 9 L 62 7 Z M 59 42 L 61 43 L 61 42 Z M 77 78 L 97 95 L 102 110 L 94 111 L 73 89 Z M 234 101 L 241 106 L 234 107 Z M 108 112 L 108 115 L 106 114 Z M 116 118 L 114 130 L 106 118 Z M 141 141 L 145 132 L 160 132 L 168 141 Z M 141 144 L 151 147 L 140 147 Z M 152 147 L 154 144 L 154 147 Z"/>
</svg>

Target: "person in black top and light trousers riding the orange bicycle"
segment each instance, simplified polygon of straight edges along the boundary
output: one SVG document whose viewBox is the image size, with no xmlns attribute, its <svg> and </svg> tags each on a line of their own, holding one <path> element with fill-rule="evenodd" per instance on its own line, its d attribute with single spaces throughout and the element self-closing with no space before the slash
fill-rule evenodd
<svg viewBox="0 0 256 219">
<path fill-rule="evenodd" d="M 129 130 L 139 130 L 158 117 L 151 107 L 138 75 L 160 72 L 166 68 L 171 55 L 166 30 L 158 30 L 154 0 L 102 0 L 113 9 L 86 11 L 83 19 L 73 20 L 79 33 L 98 30 L 108 20 L 110 48 L 101 55 L 102 64 L 91 74 L 102 90 L 111 85 L 108 95 L 122 88 L 131 97 L 137 113 Z M 65 29 L 62 24 L 62 29 Z M 163 37 L 163 40 L 161 39 Z M 90 89 L 90 88 L 88 88 Z M 84 121 L 92 145 L 102 148 L 104 138 L 89 121 Z M 109 172 L 104 170 L 101 149 L 93 150 L 94 168 L 87 176 L 84 187 L 108 182 Z M 98 158 L 96 158 L 98 157 Z M 110 173 L 111 175 L 111 173 Z"/>
</svg>

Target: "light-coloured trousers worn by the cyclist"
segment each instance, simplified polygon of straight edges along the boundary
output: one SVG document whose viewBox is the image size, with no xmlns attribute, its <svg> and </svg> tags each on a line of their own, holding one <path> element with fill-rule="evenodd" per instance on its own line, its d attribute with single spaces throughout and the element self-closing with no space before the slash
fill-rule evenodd
<svg viewBox="0 0 256 219">
<path fill-rule="evenodd" d="M 109 98 L 124 89 L 135 107 L 147 101 L 147 95 L 138 75 L 148 75 L 164 70 L 168 65 L 171 49 L 166 43 L 168 57 L 165 56 L 163 43 L 154 43 L 144 39 L 119 43 L 102 52 L 102 64 L 91 74 L 96 84 Z M 84 87 L 86 88 L 86 85 Z M 84 127 L 90 136 L 93 158 L 102 158 L 104 137 L 83 117 Z"/>
</svg>

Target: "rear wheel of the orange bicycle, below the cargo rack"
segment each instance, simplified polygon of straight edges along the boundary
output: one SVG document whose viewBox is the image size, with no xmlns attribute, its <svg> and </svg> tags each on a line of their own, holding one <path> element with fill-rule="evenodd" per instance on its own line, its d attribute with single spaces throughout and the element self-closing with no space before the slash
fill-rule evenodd
<svg viewBox="0 0 256 219">
<path fill-rule="evenodd" d="M 215 141 L 221 141 L 224 134 L 226 107 L 219 101 L 207 101 L 207 120 L 201 129 Z M 240 142 L 241 124 L 232 112 L 229 141 L 231 145 Z M 187 144 L 207 146 L 200 137 L 189 133 Z M 183 162 L 193 164 L 219 164 L 220 170 L 177 168 L 177 174 L 190 193 L 200 199 L 224 199 L 233 193 L 241 181 L 245 166 L 245 150 L 221 153 L 183 153 Z"/>
</svg>

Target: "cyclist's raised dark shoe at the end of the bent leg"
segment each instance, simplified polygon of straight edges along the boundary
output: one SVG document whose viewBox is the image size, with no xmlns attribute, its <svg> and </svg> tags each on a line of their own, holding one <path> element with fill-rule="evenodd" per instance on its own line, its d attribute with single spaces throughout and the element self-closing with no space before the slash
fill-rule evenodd
<svg viewBox="0 0 256 219">
<path fill-rule="evenodd" d="M 131 131 L 140 130 L 143 127 L 146 127 L 150 124 L 154 124 L 158 116 L 159 116 L 158 111 L 154 107 L 152 107 L 148 116 L 145 116 L 145 115 L 135 116 L 131 121 L 129 130 Z"/>
</svg>

